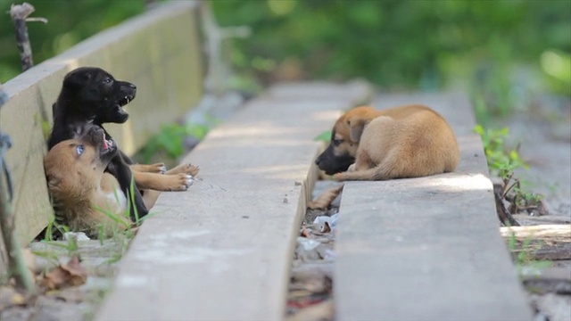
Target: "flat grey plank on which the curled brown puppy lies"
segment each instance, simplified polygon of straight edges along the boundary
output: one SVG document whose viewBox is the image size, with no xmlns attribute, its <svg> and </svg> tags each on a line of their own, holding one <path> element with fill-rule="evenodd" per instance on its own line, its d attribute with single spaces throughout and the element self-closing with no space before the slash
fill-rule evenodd
<svg viewBox="0 0 571 321">
<path fill-rule="evenodd" d="M 347 182 L 335 262 L 338 320 L 529 320 L 499 233 L 492 183 L 462 95 L 382 95 L 376 107 L 423 103 L 449 120 L 454 173 Z"/>
</svg>

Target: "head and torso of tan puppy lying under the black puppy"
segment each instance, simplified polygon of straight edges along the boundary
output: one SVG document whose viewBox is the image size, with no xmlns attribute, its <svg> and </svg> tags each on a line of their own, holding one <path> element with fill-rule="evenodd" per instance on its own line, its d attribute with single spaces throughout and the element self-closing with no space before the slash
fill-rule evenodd
<svg viewBox="0 0 571 321">
<path fill-rule="evenodd" d="M 132 224 L 119 182 L 104 172 L 117 151 L 112 140 L 106 140 L 103 128 L 87 126 L 76 138 L 55 144 L 46 154 L 44 168 L 56 217 L 72 231 L 90 237 L 103 232 L 109 237 L 114 230 Z"/>
</svg>

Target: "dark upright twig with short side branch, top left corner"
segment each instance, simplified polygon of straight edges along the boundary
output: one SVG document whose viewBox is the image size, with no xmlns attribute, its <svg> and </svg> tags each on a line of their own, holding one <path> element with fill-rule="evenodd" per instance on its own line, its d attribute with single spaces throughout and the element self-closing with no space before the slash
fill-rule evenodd
<svg viewBox="0 0 571 321">
<path fill-rule="evenodd" d="M 27 21 L 41 21 L 47 23 L 45 18 L 28 18 L 28 16 L 36 10 L 33 5 L 28 3 L 12 4 L 10 7 L 10 17 L 14 22 L 16 29 L 16 43 L 20 50 L 21 70 L 29 70 L 33 65 L 32 47 L 29 45 Z"/>
</svg>

